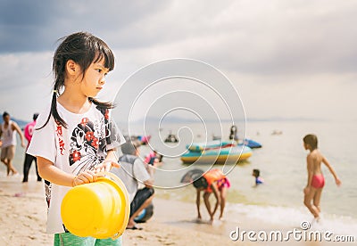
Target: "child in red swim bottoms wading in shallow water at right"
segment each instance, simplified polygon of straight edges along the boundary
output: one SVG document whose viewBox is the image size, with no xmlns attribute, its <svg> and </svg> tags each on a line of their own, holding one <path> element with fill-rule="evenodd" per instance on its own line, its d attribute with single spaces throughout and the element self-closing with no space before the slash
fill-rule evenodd
<svg viewBox="0 0 357 246">
<path fill-rule="evenodd" d="M 322 189 L 325 185 L 325 178 L 322 175 L 321 163 L 324 163 L 331 174 L 335 177 L 337 186 L 341 185 L 341 181 L 336 175 L 334 168 L 331 167 L 328 160 L 322 155 L 318 149 L 318 138 L 316 135 L 305 135 L 303 137 L 303 147 L 305 150 L 309 150 L 307 155 L 307 184 L 303 189 L 304 205 L 310 210 L 316 221 L 320 219 L 320 199 Z M 312 203 L 311 203 L 312 201 Z"/>
</svg>

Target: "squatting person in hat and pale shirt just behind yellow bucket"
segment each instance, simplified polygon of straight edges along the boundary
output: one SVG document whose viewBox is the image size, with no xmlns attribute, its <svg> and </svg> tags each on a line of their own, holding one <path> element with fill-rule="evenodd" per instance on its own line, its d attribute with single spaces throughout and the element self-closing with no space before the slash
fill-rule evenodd
<svg viewBox="0 0 357 246">
<path fill-rule="evenodd" d="M 145 163 L 139 158 L 140 143 L 129 141 L 123 143 L 120 157 L 120 168 L 112 168 L 112 173 L 119 176 L 129 193 L 130 216 L 127 229 L 141 229 L 134 221 L 154 198 L 153 180 L 145 168 Z M 139 183 L 145 187 L 139 189 Z"/>
</svg>

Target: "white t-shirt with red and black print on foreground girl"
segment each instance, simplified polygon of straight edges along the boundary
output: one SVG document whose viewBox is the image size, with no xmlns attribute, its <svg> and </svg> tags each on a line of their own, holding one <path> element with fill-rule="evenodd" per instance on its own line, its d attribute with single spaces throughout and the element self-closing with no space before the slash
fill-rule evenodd
<svg viewBox="0 0 357 246">
<path fill-rule="evenodd" d="M 28 153 L 40 156 L 54 163 L 66 173 L 78 175 L 102 163 L 107 151 L 125 142 L 123 135 L 109 119 L 109 111 L 92 103 L 89 111 L 75 114 L 67 111 L 57 102 L 57 111 L 68 127 L 57 125 L 53 116 L 46 127 L 35 130 L 29 144 Z M 50 107 L 39 114 L 35 129 L 44 126 Z M 61 203 L 64 195 L 71 189 L 57 184 L 46 184 L 48 205 L 47 233 L 64 232 L 61 218 Z"/>
</svg>

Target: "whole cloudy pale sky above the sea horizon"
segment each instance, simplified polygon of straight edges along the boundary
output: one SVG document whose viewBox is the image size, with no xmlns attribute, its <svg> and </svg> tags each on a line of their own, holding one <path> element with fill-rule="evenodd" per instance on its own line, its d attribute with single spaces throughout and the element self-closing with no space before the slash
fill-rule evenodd
<svg viewBox="0 0 357 246">
<path fill-rule="evenodd" d="M 88 31 L 116 57 L 98 98 L 118 102 L 117 119 L 357 121 L 356 12 L 349 0 L 3 0 L 0 111 L 24 120 L 42 111 L 57 40 Z M 166 67 L 177 58 L 188 59 L 175 65 L 182 74 Z"/>
</svg>

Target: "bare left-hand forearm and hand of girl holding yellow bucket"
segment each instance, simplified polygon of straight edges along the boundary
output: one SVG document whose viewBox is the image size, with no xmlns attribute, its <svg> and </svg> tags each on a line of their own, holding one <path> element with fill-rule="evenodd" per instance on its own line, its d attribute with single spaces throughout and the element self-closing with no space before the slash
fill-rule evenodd
<svg viewBox="0 0 357 246">
<path fill-rule="evenodd" d="M 96 181 L 95 173 L 90 170 L 86 170 L 78 176 L 74 176 L 55 167 L 53 162 L 40 156 L 37 156 L 37 168 L 39 176 L 51 183 L 62 186 L 72 187 Z"/>
</svg>

